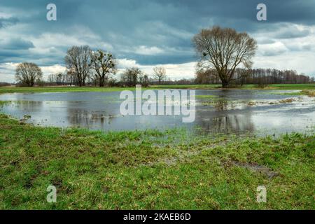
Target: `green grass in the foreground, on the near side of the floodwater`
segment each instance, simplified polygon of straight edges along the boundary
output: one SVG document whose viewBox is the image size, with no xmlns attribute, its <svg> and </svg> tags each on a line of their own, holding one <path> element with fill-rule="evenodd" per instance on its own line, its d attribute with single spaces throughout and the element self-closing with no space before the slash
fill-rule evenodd
<svg viewBox="0 0 315 224">
<path fill-rule="evenodd" d="M 0 115 L 0 158 L 0 209 L 315 209 L 315 135 L 104 133 Z"/>
</svg>

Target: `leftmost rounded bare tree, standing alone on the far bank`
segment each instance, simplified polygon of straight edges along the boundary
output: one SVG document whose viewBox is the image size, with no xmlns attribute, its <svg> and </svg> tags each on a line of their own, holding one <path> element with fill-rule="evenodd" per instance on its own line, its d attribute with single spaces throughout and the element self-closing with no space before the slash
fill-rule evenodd
<svg viewBox="0 0 315 224">
<path fill-rule="evenodd" d="M 43 78 L 41 68 L 34 63 L 23 62 L 15 70 L 15 79 L 18 83 L 27 86 L 33 86 Z"/>
</svg>

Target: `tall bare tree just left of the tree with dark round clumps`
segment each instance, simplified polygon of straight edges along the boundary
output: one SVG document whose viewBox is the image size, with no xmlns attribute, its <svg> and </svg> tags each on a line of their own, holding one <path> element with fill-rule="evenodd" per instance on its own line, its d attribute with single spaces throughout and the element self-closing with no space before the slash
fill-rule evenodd
<svg viewBox="0 0 315 224">
<path fill-rule="evenodd" d="M 85 85 L 85 80 L 90 72 L 92 50 L 88 45 L 73 46 L 66 52 L 64 62 L 68 69 L 74 69 L 78 79 L 78 85 Z"/>
</svg>

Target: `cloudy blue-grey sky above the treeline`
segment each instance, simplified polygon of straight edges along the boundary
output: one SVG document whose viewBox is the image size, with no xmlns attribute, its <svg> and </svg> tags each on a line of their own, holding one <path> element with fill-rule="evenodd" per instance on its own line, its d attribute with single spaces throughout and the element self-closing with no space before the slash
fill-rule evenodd
<svg viewBox="0 0 315 224">
<path fill-rule="evenodd" d="M 46 20 L 48 3 L 57 21 Z M 256 19 L 258 3 L 267 5 L 267 21 Z M 120 69 L 151 74 L 163 64 L 171 78 L 192 78 L 191 39 L 214 25 L 258 41 L 254 67 L 315 76 L 315 0 L 1 0 L 0 81 L 14 81 L 20 62 L 38 64 L 45 76 L 64 71 L 66 49 L 85 44 L 113 52 Z"/>
</svg>

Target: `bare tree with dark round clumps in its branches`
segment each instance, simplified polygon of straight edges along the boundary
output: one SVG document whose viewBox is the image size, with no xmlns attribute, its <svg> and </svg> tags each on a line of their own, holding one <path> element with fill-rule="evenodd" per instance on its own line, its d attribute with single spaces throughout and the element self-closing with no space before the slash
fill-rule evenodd
<svg viewBox="0 0 315 224">
<path fill-rule="evenodd" d="M 109 78 L 110 73 L 117 72 L 116 60 L 111 53 L 106 53 L 104 50 L 91 52 L 91 65 L 99 79 L 99 87 L 104 86 L 105 80 Z"/>
</svg>

